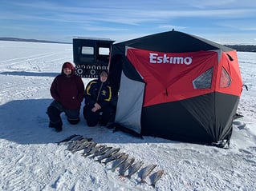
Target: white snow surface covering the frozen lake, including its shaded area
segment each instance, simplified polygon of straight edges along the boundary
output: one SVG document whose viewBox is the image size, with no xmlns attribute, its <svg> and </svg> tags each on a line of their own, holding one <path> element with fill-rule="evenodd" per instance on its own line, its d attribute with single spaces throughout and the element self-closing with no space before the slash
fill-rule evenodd
<svg viewBox="0 0 256 191">
<path fill-rule="evenodd" d="M 244 84 L 234 121 L 230 149 L 170 141 L 140 139 L 88 127 L 81 115 L 78 125 L 63 117 L 63 132 L 48 128 L 47 106 L 51 82 L 63 62 L 72 62 L 72 45 L 0 42 L 0 189 L 1 190 L 256 190 L 256 54 L 238 52 Z M 90 79 L 89 79 L 90 80 Z M 89 81 L 83 79 L 86 85 Z M 156 164 L 165 170 L 153 188 L 140 184 L 140 171 L 131 179 L 112 172 L 112 163 L 100 164 L 81 152 L 57 145 L 71 134 L 91 137 Z M 147 177 L 148 183 L 151 174 Z"/>
</svg>

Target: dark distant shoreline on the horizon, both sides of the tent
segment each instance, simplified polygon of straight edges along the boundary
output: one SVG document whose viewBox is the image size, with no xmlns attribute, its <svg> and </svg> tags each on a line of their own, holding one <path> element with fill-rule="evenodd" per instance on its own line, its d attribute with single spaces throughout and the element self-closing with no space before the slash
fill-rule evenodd
<svg viewBox="0 0 256 191">
<path fill-rule="evenodd" d="M 14 41 L 14 42 L 45 42 L 45 43 L 59 43 L 59 44 L 72 44 L 72 42 L 55 42 L 45 41 L 37 39 L 25 39 L 25 38 L 0 38 L 0 41 Z M 256 52 L 255 45 L 224 45 L 228 46 L 238 52 Z"/>
</svg>

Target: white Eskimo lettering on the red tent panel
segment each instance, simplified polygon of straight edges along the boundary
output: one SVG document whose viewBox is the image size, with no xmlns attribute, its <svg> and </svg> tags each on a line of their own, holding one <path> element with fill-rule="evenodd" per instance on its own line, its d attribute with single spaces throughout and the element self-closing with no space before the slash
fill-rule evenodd
<svg viewBox="0 0 256 191">
<path fill-rule="evenodd" d="M 149 62 L 152 64 L 185 64 L 190 65 L 192 63 L 191 57 L 171 57 L 167 54 L 163 56 L 156 53 L 149 53 Z"/>
</svg>

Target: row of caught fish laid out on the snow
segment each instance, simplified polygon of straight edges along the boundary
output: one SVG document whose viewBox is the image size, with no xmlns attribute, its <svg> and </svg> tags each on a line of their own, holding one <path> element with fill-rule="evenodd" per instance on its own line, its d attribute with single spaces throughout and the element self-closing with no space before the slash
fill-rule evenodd
<svg viewBox="0 0 256 191">
<path fill-rule="evenodd" d="M 120 148 L 99 145 L 95 141 L 92 141 L 91 138 L 86 138 L 82 135 L 74 134 L 57 143 L 58 145 L 66 144 L 67 150 L 71 151 L 71 153 L 83 150 L 83 153 L 81 153 L 83 157 L 91 157 L 91 159 L 95 159 L 95 161 L 99 161 L 105 165 L 112 162 L 112 172 L 115 172 L 119 168 L 118 172 L 121 177 L 128 177 L 130 179 L 133 174 L 138 173 L 140 175 L 140 183 L 148 183 L 146 179 L 149 179 L 150 183 L 148 185 L 152 185 L 153 187 L 155 187 L 156 181 L 164 173 L 162 169 L 152 173 L 156 165 L 147 165 L 142 168 L 144 165 L 143 161 L 135 162 L 134 157 L 129 157 L 127 153 L 121 153 Z"/>
</svg>

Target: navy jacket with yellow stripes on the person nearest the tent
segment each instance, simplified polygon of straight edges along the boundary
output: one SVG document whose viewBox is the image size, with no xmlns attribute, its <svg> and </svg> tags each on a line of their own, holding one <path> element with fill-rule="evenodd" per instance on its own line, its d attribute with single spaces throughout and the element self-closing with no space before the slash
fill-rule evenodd
<svg viewBox="0 0 256 191">
<path fill-rule="evenodd" d="M 96 102 L 104 107 L 110 105 L 112 99 L 112 90 L 107 82 L 101 82 L 100 79 L 92 80 L 88 83 L 85 94 L 85 105 L 93 106 Z"/>
</svg>

